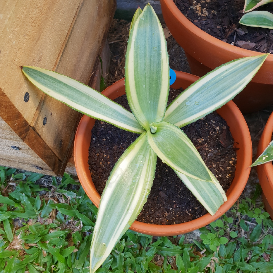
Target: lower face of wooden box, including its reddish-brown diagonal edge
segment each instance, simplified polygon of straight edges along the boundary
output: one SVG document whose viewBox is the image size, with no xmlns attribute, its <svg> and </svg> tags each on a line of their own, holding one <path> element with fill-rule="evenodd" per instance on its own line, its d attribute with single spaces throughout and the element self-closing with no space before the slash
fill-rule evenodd
<svg viewBox="0 0 273 273">
<path fill-rule="evenodd" d="M 58 174 L 62 170 L 63 163 L 57 159 L 37 132 L 29 126 L 1 88 L 0 145 L 1 165 L 51 175 Z M 14 150 L 11 146 L 19 147 L 20 150 Z"/>
</svg>

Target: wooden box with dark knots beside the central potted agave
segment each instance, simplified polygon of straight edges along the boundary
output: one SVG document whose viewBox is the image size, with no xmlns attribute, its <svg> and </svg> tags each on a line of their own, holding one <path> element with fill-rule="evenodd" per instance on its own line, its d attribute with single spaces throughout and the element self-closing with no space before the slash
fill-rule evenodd
<svg viewBox="0 0 273 273">
<path fill-rule="evenodd" d="M 20 66 L 91 85 L 115 0 L 0 0 L 0 165 L 62 175 L 81 114 L 34 87 Z"/>
</svg>

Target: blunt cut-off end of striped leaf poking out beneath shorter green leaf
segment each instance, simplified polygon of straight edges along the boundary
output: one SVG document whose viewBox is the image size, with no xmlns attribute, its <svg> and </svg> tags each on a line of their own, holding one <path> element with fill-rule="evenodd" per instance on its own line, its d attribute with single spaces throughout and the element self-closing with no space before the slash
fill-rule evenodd
<svg viewBox="0 0 273 273">
<path fill-rule="evenodd" d="M 210 171 L 212 180 L 209 182 L 194 179 L 178 171 L 175 172 L 211 215 L 214 215 L 224 201 L 227 201 L 224 190 Z"/>
</svg>

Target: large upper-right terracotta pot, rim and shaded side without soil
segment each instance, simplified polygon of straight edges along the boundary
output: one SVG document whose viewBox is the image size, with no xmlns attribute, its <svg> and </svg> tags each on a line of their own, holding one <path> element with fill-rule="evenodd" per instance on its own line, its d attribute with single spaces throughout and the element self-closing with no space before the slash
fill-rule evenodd
<svg viewBox="0 0 273 273">
<path fill-rule="evenodd" d="M 199 77 L 231 60 L 262 53 L 232 46 L 207 34 L 185 17 L 173 0 L 160 0 L 164 20 L 173 37 L 185 50 L 191 72 Z M 234 98 L 243 113 L 258 111 L 273 103 L 273 56 L 244 90 Z"/>
</svg>

